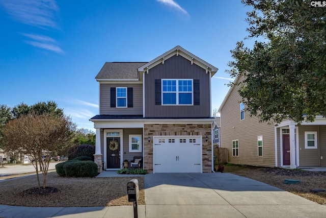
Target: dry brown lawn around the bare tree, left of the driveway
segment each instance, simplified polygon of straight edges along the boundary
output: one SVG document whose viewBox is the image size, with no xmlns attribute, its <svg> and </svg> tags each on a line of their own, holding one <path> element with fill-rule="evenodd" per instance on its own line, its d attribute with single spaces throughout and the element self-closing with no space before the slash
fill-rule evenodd
<svg viewBox="0 0 326 218">
<path fill-rule="evenodd" d="M 145 204 L 144 177 L 138 179 L 138 204 Z M 3 179 L 3 178 L 2 178 Z M 128 202 L 127 183 L 131 177 L 68 178 L 48 173 L 47 186 L 59 192 L 48 195 L 26 195 L 25 190 L 37 187 L 36 175 L 0 182 L 0 204 L 28 207 L 92 207 L 132 205 Z"/>
</svg>

